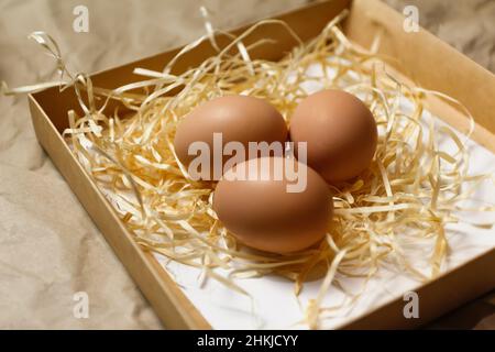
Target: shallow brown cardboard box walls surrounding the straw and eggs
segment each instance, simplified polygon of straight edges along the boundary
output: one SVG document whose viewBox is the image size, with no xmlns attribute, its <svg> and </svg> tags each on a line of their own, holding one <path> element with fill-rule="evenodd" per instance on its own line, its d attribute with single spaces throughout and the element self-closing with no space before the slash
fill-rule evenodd
<svg viewBox="0 0 495 352">
<path fill-rule="evenodd" d="M 476 121 L 473 139 L 495 153 L 495 99 L 493 99 L 495 76 L 424 30 L 406 33 L 403 30 L 404 18 L 387 6 L 377 0 L 333 0 L 311 4 L 280 15 L 278 19 L 287 22 L 302 40 L 309 40 L 318 35 L 323 26 L 344 8 L 350 9 L 350 15 L 344 22 L 344 32 L 350 40 L 369 47 L 380 32 L 382 36 L 380 51 L 397 59 L 399 65 L 396 68 L 400 74 L 424 88 L 444 92 L 462 101 Z M 240 33 L 244 29 L 245 26 L 233 32 Z M 277 25 L 268 25 L 255 31 L 246 43 L 263 36 L 276 38 L 277 44 L 256 48 L 252 54 L 253 57 L 276 61 L 297 44 Z M 224 38 L 219 37 L 218 41 L 220 45 L 224 44 Z M 134 67 L 161 70 L 179 50 L 175 48 L 95 74 L 91 76 L 94 85 L 112 89 L 134 81 L 136 80 L 136 76 L 132 74 Z M 196 66 L 213 54 L 213 48 L 205 42 L 187 53 L 177 63 L 175 70 L 182 72 Z M 186 298 L 154 256 L 144 252 L 133 241 L 112 206 L 98 190 L 62 138 L 62 132 L 68 127 L 67 111 L 70 109 L 78 111 L 74 89 L 59 92 L 57 87 L 53 87 L 30 95 L 29 100 L 40 143 L 150 300 L 165 327 L 210 329 L 208 321 Z M 446 119 L 448 123 L 460 130 L 469 123 L 468 119 L 455 110 L 458 107 L 454 105 L 430 99 L 429 108 L 436 116 Z M 465 265 L 422 285 L 417 290 L 422 311 L 419 319 L 405 319 L 404 301 L 396 299 L 358 317 L 343 328 L 381 329 L 419 326 L 493 289 L 495 287 L 494 272 L 495 249 L 492 249 L 483 255 L 473 257 Z"/>
</svg>

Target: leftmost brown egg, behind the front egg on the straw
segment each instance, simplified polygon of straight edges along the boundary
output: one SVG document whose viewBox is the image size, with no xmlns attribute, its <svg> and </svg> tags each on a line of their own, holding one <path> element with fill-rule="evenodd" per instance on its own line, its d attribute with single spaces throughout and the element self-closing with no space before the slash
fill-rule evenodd
<svg viewBox="0 0 495 352">
<path fill-rule="evenodd" d="M 280 142 L 287 140 L 287 124 L 268 102 L 248 96 L 226 96 L 212 99 L 191 111 L 177 127 L 174 146 L 179 161 L 188 166 L 196 157 L 188 153 L 193 142 L 206 142 L 210 150 L 211 173 L 202 179 L 218 180 L 222 173 L 212 174 L 213 133 L 221 133 L 220 150 L 228 142 L 240 142 L 249 156 L 249 142 Z M 217 134 L 218 136 L 218 134 Z M 282 144 L 284 145 L 284 144 Z M 221 157 L 221 155 L 220 155 Z M 222 166 L 231 156 L 222 157 Z M 202 172 L 202 170 L 201 170 Z"/>
</svg>

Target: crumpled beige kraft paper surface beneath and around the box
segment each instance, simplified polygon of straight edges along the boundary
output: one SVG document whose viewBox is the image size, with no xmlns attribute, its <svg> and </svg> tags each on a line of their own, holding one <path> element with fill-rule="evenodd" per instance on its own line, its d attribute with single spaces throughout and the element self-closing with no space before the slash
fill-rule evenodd
<svg viewBox="0 0 495 352">
<path fill-rule="evenodd" d="M 0 0 L 0 79 L 47 81 L 54 63 L 26 35 L 42 30 L 72 72 L 91 73 L 185 44 L 205 33 L 199 6 L 229 28 L 307 0 Z M 495 2 L 387 0 L 419 8 L 420 24 L 495 70 Z M 73 30 L 73 9 L 89 9 L 89 33 Z M 74 315 L 85 292 L 89 317 Z M 495 329 L 495 295 L 429 328 Z M 38 145 L 26 98 L 0 98 L 0 328 L 161 329 L 163 326 L 103 237 Z"/>
</svg>

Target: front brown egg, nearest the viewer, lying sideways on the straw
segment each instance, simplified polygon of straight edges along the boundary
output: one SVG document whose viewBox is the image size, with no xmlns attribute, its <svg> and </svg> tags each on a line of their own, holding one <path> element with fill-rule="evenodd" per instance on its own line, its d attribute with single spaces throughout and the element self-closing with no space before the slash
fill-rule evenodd
<svg viewBox="0 0 495 352">
<path fill-rule="evenodd" d="M 328 185 L 314 169 L 292 161 L 252 158 L 229 169 L 218 183 L 213 210 L 240 242 L 261 251 L 290 253 L 309 248 L 327 233 L 333 213 Z M 299 177 L 280 173 L 285 167 Z M 248 177 L 232 178 L 240 174 Z"/>
</svg>

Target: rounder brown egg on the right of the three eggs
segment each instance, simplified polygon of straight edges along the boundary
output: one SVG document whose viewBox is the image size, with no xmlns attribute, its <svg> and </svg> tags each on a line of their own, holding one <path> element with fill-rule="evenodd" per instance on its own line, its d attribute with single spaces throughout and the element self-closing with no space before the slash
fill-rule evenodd
<svg viewBox="0 0 495 352">
<path fill-rule="evenodd" d="M 289 133 L 295 154 L 297 142 L 307 142 L 307 164 L 330 184 L 360 175 L 376 151 L 372 112 L 342 90 L 322 90 L 302 100 L 292 117 Z"/>
</svg>

